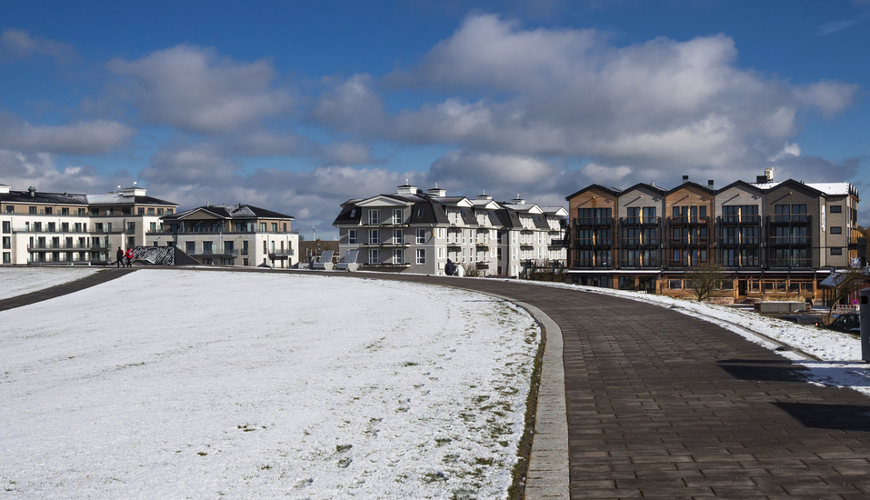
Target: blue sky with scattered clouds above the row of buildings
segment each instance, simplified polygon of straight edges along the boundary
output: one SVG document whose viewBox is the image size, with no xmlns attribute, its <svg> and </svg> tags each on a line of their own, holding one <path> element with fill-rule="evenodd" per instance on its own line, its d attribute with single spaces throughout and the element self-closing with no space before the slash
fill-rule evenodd
<svg viewBox="0 0 870 500">
<path fill-rule="evenodd" d="M 406 182 L 554 206 L 773 166 L 870 193 L 870 0 L 33 0 L 0 75 L 0 184 L 135 182 L 308 238 Z"/>
</svg>

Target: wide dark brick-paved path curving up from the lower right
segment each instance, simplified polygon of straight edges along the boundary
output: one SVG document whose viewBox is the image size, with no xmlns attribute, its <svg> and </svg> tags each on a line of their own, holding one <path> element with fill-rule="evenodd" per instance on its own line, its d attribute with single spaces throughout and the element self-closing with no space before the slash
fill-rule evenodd
<svg viewBox="0 0 870 500">
<path fill-rule="evenodd" d="M 571 498 L 870 498 L 870 399 L 808 384 L 800 366 L 719 326 L 515 281 L 316 274 L 455 286 L 551 318 L 564 342 L 564 391 L 551 395 L 564 392 Z M 542 416 L 536 441 L 551 431 Z M 539 458 L 556 465 L 560 453 Z M 526 495 L 564 498 L 558 469 L 530 466 Z"/>
</svg>

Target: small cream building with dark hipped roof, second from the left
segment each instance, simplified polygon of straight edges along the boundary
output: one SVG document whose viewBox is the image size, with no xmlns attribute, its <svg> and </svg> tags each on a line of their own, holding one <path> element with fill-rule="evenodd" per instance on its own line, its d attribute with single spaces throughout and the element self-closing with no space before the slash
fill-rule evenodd
<svg viewBox="0 0 870 500">
<path fill-rule="evenodd" d="M 149 245 L 177 246 L 203 265 L 293 267 L 299 262 L 294 217 L 253 205 L 205 205 L 165 215 Z"/>
</svg>

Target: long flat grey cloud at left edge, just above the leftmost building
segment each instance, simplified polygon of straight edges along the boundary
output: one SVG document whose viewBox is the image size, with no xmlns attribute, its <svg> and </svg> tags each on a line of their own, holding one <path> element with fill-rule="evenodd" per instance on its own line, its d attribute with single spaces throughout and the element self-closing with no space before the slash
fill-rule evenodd
<svg viewBox="0 0 870 500">
<path fill-rule="evenodd" d="M 0 147 L 18 151 L 97 155 L 115 149 L 133 135 L 133 128 L 110 120 L 30 125 L 14 115 L 0 113 Z"/>
</svg>

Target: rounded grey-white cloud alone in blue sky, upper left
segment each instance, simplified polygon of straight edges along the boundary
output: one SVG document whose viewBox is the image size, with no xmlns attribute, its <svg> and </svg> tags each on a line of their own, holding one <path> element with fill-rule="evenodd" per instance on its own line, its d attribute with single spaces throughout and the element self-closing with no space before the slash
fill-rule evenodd
<svg viewBox="0 0 870 500">
<path fill-rule="evenodd" d="M 145 121 L 214 134 L 258 125 L 287 111 L 294 100 L 273 88 L 266 60 L 238 63 L 214 50 L 177 45 L 134 61 L 115 59 L 109 69 Z"/>
</svg>

